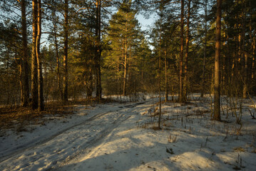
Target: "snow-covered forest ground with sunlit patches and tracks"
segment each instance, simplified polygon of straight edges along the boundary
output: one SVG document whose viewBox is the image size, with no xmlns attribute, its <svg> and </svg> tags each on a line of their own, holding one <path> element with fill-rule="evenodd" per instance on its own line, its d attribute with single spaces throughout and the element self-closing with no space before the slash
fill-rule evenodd
<svg viewBox="0 0 256 171">
<path fill-rule="evenodd" d="M 157 104 L 74 105 L 72 115 L 1 128 L 0 170 L 256 170 L 251 100 L 241 110 L 222 100 L 222 122 L 210 120 L 209 97 L 163 103 L 160 130 Z"/>
</svg>

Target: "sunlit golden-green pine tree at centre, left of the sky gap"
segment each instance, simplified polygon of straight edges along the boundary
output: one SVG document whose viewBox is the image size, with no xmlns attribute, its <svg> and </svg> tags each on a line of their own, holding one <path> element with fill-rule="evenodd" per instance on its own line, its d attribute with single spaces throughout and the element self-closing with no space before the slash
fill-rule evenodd
<svg viewBox="0 0 256 171">
<path fill-rule="evenodd" d="M 120 69 L 123 73 L 122 94 L 127 94 L 128 86 L 128 66 L 130 65 L 130 56 L 136 36 L 138 35 L 138 21 L 135 19 L 135 11 L 131 9 L 130 1 L 123 1 L 118 12 L 112 16 L 109 28 L 109 39 L 113 55 L 108 58 L 113 58 L 116 61 L 118 73 Z M 120 78 L 120 77 L 119 77 Z"/>
</svg>

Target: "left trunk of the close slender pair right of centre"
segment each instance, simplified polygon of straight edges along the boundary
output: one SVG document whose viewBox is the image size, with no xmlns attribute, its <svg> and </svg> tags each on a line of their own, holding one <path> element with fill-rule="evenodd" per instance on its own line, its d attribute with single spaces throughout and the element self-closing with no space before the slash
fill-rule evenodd
<svg viewBox="0 0 256 171">
<path fill-rule="evenodd" d="M 179 102 L 183 102 L 183 28 L 184 27 L 184 0 L 181 0 L 180 10 L 180 91 Z"/>
</svg>

